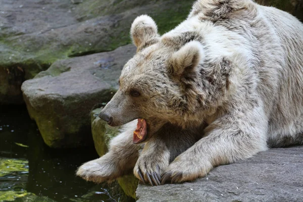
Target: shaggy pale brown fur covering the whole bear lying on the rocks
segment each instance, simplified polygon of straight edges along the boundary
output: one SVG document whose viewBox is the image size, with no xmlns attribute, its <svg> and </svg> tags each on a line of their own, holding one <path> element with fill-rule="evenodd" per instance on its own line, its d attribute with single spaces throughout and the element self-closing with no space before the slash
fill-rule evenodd
<svg viewBox="0 0 303 202">
<path fill-rule="evenodd" d="M 127 129 L 77 175 L 100 182 L 134 168 L 151 185 L 178 183 L 268 146 L 303 143 L 303 25 L 295 17 L 250 0 L 199 0 L 163 36 L 148 16 L 133 22 L 131 36 L 137 54 L 102 111 Z M 137 118 L 148 125 L 140 145 L 135 122 L 127 124 Z"/>
</svg>

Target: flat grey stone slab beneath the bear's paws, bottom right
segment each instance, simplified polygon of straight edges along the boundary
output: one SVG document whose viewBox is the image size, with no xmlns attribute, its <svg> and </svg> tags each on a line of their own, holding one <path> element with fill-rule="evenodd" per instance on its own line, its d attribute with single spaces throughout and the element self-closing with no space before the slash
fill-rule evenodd
<svg viewBox="0 0 303 202">
<path fill-rule="evenodd" d="M 273 148 L 183 184 L 139 184 L 144 201 L 303 201 L 303 146 Z"/>
</svg>

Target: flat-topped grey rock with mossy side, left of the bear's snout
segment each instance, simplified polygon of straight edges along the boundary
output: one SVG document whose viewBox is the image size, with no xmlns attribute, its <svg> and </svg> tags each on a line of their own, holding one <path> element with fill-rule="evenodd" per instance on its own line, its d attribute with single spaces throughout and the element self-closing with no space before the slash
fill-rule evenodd
<svg viewBox="0 0 303 202">
<path fill-rule="evenodd" d="M 92 143 L 89 113 L 114 95 L 121 70 L 135 49 L 130 44 L 113 52 L 61 60 L 23 83 L 29 115 L 48 146 Z"/>
</svg>

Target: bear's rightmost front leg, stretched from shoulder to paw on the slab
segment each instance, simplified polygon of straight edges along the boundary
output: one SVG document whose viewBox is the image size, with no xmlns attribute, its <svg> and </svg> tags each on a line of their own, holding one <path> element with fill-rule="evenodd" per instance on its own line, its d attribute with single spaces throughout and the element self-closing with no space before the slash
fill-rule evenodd
<svg viewBox="0 0 303 202">
<path fill-rule="evenodd" d="M 215 166 L 230 164 L 267 149 L 267 120 L 261 108 L 234 110 L 211 123 L 205 137 L 165 170 L 162 184 L 192 181 Z"/>
</svg>

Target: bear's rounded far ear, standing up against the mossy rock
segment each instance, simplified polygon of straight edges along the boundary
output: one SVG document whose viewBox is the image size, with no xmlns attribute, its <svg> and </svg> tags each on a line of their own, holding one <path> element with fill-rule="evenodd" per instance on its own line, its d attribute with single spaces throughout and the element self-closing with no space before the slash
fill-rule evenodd
<svg viewBox="0 0 303 202">
<path fill-rule="evenodd" d="M 157 25 L 147 15 L 138 16 L 134 20 L 130 28 L 130 34 L 138 50 L 159 41 Z"/>
</svg>

